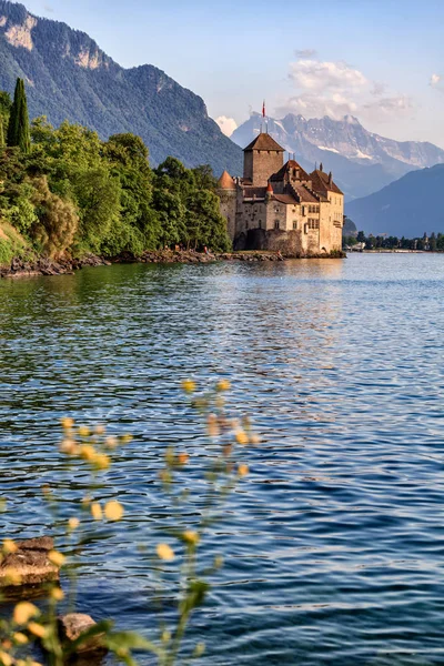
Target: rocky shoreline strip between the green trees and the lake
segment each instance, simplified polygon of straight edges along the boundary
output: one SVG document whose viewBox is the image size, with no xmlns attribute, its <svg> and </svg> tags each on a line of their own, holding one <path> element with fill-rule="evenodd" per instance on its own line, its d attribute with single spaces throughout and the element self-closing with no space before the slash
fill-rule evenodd
<svg viewBox="0 0 444 666">
<path fill-rule="evenodd" d="M 147 251 L 142 255 L 135 256 L 122 253 L 115 258 L 103 258 L 94 254 L 88 254 L 82 259 L 64 258 L 59 260 L 39 258 L 34 260 L 13 259 L 10 266 L 0 266 L 0 279 L 9 278 L 38 278 L 53 275 L 72 275 L 84 266 L 110 266 L 113 264 L 133 264 L 133 263 L 155 263 L 155 264 L 206 264 L 220 261 L 225 262 L 282 262 L 291 259 L 345 259 L 344 252 L 337 255 L 312 254 L 309 256 L 290 256 L 280 252 L 266 252 L 262 250 L 252 250 L 245 252 L 222 252 L 208 253 L 196 252 L 194 250 L 157 250 Z"/>
</svg>

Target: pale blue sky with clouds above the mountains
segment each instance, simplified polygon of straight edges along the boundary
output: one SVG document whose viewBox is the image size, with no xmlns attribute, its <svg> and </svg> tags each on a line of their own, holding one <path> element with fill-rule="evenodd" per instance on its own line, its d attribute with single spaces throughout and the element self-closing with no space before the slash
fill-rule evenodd
<svg viewBox="0 0 444 666">
<path fill-rule="evenodd" d="M 150 63 L 230 132 L 251 111 L 355 115 L 444 148 L 444 0 L 24 0 L 123 67 Z"/>
</svg>

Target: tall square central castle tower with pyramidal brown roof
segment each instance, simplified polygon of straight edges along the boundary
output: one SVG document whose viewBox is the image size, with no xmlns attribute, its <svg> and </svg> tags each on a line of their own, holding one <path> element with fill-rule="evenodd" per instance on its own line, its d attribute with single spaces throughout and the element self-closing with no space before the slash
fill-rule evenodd
<svg viewBox="0 0 444 666">
<path fill-rule="evenodd" d="M 284 149 L 261 132 L 243 151 L 243 179 L 256 188 L 266 188 L 270 176 L 284 163 Z"/>
</svg>

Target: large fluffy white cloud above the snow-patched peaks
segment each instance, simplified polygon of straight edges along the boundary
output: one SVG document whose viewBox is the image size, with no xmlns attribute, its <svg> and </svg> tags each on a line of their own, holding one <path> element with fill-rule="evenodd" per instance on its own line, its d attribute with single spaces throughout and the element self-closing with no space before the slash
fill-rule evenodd
<svg viewBox="0 0 444 666">
<path fill-rule="evenodd" d="M 296 113 L 306 118 L 329 115 L 335 120 L 356 115 L 365 120 L 389 120 L 411 113 L 411 98 L 380 81 L 373 81 L 356 67 L 343 60 L 320 60 L 310 50 L 296 51 L 290 63 L 287 80 L 293 94 L 283 99 L 278 115 Z"/>
</svg>

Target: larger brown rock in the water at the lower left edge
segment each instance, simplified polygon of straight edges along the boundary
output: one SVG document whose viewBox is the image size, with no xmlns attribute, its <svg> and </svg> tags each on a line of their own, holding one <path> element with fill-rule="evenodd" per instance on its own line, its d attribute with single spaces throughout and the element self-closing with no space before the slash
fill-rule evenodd
<svg viewBox="0 0 444 666">
<path fill-rule="evenodd" d="M 48 559 L 54 548 L 49 536 L 16 543 L 18 549 L 0 563 L 0 587 L 39 585 L 59 581 L 59 567 Z"/>
</svg>

